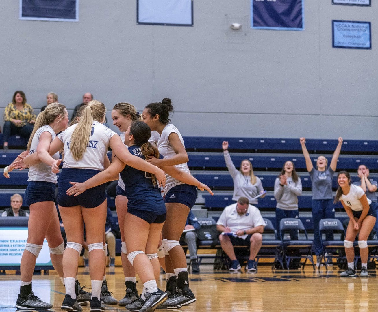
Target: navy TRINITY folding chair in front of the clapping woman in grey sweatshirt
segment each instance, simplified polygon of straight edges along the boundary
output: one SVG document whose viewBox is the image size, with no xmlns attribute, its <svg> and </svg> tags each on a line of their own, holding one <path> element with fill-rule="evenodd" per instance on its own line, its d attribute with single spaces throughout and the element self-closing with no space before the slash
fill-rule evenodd
<svg viewBox="0 0 378 312">
<path fill-rule="evenodd" d="M 298 230 L 300 239 L 285 240 L 285 235 L 283 234 L 290 230 Z M 308 239 L 307 232 L 302 221 L 297 218 L 283 218 L 280 221 L 280 231 L 282 237 L 282 259 L 286 265 L 286 268 L 289 269 L 290 262 L 293 259 L 300 259 L 299 261 L 301 261 L 301 259 L 305 259 L 304 263 L 300 263 L 300 265 L 302 265 L 302 269 L 304 269 L 307 260 L 310 260 L 313 269 L 315 270 L 315 264 L 311 253 L 313 241 Z M 290 251 L 297 252 L 297 255 L 289 254 Z"/>
</svg>

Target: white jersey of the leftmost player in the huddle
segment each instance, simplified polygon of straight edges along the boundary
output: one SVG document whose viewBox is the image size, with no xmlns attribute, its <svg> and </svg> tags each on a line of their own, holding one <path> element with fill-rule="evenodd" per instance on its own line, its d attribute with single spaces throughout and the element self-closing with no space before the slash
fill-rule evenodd
<svg viewBox="0 0 378 312">
<path fill-rule="evenodd" d="M 37 152 L 37 146 L 39 143 L 39 137 L 43 132 L 49 132 L 51 134 L 51 142 L 56 137 L 53 128 L 45 124 L 40 127 L 33 136 L 31 140 L 29 155 Z M 52 156 L 55 160 L 59 159 L 59 153 L 56 152 Z M 57 183 L 56 174 L 51 172 L 51 166 L 46 165 L 45 163 L 40 162 L 39 164 L 33 164 L 30 166 L 28 173 L 28 181 L 44 181 L 44 182 L 53 182 Z"/>
</svg>

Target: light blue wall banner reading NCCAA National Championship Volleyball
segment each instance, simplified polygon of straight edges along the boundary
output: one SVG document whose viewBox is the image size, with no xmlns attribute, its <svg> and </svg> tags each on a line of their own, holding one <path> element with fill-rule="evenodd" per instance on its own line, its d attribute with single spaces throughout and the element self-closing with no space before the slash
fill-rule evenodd
<svg viewBox="0 0 378 312">
<path fill-rule="evenodd" d="M 332 46 L 345 49 L 371 49 L 371 23 L 333 20 Z"/>
</svg>

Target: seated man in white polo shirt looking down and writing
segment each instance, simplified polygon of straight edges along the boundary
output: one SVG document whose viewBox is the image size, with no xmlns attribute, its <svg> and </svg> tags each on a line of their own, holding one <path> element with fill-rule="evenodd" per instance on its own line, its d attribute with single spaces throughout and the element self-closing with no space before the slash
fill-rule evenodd
<svg viewBox="0 0 378 312">
<path fill-rule="evenodd" d="M 259 209 L 249 204 L 246 197 L 240 197 L 236 204 L 225 207 L 217 222 L 217 230 L 223 251 L 231 259 L 230 271 L 241 269 L 235 257 L 234 245 L 249 247 L 246 271 L 256 272 L 256 255 L 261 248 L 265 222 Z"/>
</svg>

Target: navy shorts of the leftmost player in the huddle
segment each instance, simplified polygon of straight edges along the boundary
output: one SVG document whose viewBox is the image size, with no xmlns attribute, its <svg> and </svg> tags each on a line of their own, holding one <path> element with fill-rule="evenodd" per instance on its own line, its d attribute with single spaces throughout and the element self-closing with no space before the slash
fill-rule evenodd
<svg viewBox="0 0 378 312">
<path fill-rule="evenodd" d="M 25 204 L 30 207 L 31 204 L 40 201 L 54 201 L 56 183 L 45 181 L 29 181 L 28 187 L 24 193 Z"/>
</svg>

